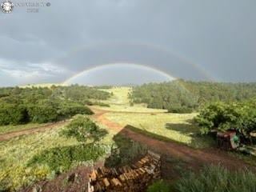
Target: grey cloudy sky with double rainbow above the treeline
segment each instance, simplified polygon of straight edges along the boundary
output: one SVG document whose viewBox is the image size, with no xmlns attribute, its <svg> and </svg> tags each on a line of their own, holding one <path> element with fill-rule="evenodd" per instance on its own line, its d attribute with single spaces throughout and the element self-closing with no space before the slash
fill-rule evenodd
<svg viewBox="0 0 256 192">
<path fill-rule="evenodd" d="M 66 82 L 76 74 L 86 83 L 95 67 L 113 74 L 97 75 L 97 84 L 127 84 L 129 74 L 154 82 L 159 73 L 256 82 L 255 0 L 12 2 L 12 13 L 0 13 L 0 86 Z M 28 13 L 33 9 L 38 13 Z"/>
</svg>

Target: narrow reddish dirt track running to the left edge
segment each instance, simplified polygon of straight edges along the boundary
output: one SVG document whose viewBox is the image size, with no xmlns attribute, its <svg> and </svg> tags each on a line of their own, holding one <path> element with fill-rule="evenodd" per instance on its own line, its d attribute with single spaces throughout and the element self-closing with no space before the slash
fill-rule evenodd
<svg viewBox="0 0 256 192">
<path fill-rule="evenodd" d="M 27 129 L 27 130 L 17 130 L 17 131 L 12 131 L 12 132 L 9 132 L 6 134 L 0 134 L 0 142 L 9 140 L 10 138 L 15 138 L 18 136 L 26 135 L 26 134 L 34 134 L 34 133 L 42 132 L 45 130 L 50 130 L 50 129 L 53 129 L 58 126 L 63 126 L 65 124 L 66 124 L 66 122 L 54 122 L 54 123 L 50 123 L 46 126 L 37 126 L 37 127 Z"/>
</svg>

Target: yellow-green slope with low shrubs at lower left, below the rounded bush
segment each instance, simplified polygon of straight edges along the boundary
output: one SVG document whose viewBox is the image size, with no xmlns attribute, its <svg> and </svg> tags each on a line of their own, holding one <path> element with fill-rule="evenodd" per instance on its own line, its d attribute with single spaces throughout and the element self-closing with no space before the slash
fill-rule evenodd
<svg viewBox="0 0 256 192">
<path fill-rule="evenodd" d="M 113 143 L 111 134 L 97 144 L 81 143 L 75 137 L 59 134 L 63 130 L 66 127 L 55 127 L 0 142 L 0 191 L 18 190 L 21 186 L 54 178 L 55 174 L 74 166 L 87 165 L 109 153 Z"/>
</svg>

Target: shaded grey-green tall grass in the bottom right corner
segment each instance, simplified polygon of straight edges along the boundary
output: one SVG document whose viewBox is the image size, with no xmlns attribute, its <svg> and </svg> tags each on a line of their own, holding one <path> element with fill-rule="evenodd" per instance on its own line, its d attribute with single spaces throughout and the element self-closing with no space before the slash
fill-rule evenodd
<svg viewBox="0 0 256 192">
<path fill-rule="evenodd" d="M 178 192 L 254 192 L 256 174 L 248 170 L 229 171 L 222 166 L 206 166 L 176 183 Z"/>
</svg>

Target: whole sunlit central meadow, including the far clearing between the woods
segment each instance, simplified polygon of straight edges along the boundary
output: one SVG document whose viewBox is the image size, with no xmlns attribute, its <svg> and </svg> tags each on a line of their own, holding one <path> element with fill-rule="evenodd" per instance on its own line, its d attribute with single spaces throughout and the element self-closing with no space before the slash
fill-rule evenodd
<svg viewBox="0 0 256 192">
<path fill-rule="evenodd" d="M 128 98 L 130 90 L 130 87 L 114 87 L 106 90 L 113 93 L 113 96 L 106 101 L 110 107 L 98 107 L 102 110 L 113 111 L 113 113 L 105 114 L 106 118 L 122 126 L 134 126 L 141 133 L 143 131 L 147 134 L 151 133 L 150 136 L 154 138 L 164 137 L 166 140 L 181 142 L 194 148 L 213 145 L 213 139 L 202 137 L 198 126 L 194 125 L 193 118 L 197 114 L 169 114 L 165 113 L 166 110 L 146 108 L 143 104 L 130 106 Z"/>
</svg>

